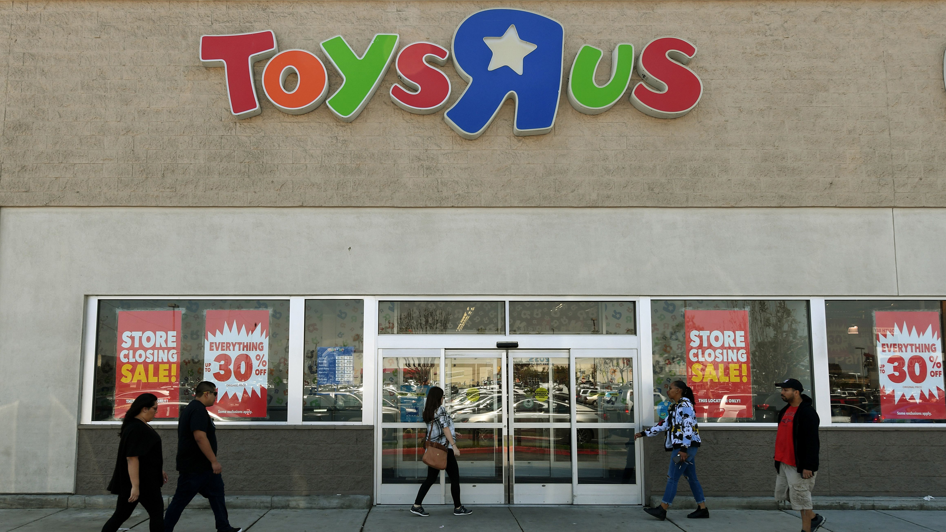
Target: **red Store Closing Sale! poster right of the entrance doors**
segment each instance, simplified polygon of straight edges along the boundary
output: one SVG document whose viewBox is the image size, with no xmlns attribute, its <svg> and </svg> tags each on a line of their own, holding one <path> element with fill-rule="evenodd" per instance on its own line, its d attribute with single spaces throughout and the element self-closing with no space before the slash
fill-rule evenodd
<svg viewBox="0 0 946 532">
<path fill-rule="evenodd" d="M 752 417 L 748 310 L 685 310 L 687 383 L 700 417 Z"/>
</svg>

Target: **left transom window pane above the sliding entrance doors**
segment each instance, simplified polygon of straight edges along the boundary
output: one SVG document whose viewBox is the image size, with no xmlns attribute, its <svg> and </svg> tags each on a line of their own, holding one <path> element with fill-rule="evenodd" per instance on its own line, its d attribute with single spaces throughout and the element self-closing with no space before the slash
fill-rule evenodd
<svg viewBox="0 0 946 532">
<path fill-rule="evenodd" d="M 379 301 L 378 334 L 505 334 L 503 301 Z"/>
</svg>

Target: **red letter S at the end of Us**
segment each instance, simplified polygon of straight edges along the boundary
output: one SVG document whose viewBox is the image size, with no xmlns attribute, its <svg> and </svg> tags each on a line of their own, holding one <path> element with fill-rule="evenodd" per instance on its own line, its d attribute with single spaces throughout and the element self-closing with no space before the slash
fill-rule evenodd
<svg viewBox="0 0 946 532">
<path fill-rule="evenodd" d="M 631 104 L 644 115 L 678 118 L 690 113 L 703 96 L 703 81 L 683 66 L 696 55 L 696 46 L 678 37 L 659 37 L 644 46 L 637 69 L 639 82 Z M 682 63 L 682 64 L 681 64 Z"/>
</svg>

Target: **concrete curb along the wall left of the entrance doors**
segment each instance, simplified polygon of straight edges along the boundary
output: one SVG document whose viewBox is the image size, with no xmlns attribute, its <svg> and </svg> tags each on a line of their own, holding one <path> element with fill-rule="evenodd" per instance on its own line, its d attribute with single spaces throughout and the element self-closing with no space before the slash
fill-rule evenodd
<svg viewBox="0 0 946 532">
<path fill-rule="evenodd" d="M 113 509 L 115 495 L 0 495 L 0 508 L 97 508 Z M 164 495 L 165 507 L 171 496 Z M 226 498 L 228 508 L 242 509 L 367 509 L 371 507 L 368 495 L 231 495 Z M 188 508 L 209 508 L 202 497 L 195 497 Z"/>
</svg>

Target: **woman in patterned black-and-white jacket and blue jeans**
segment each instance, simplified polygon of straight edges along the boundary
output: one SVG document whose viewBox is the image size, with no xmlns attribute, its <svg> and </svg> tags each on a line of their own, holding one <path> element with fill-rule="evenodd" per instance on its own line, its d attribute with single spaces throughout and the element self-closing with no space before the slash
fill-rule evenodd
<svg viewBox="0 0 946 532">
<path fill-rule="evenodd" d="M 696 478 L 696 452 L 700 450 L 700 430 L 696 425 L 696 412 L 693 410 L 693 390 L 684 381 L 673 381 L 667 396 L 673 399 L 667 417 L 657 425 L 638 434 L 634 439 L 643 436 L 652 436 L 666 432 L 663 447 L 670 455 L 670 469 L 667 470 L 667 488 L 663 490 L 663 499 L 656 508 L 644 508 L 644 511 L 660 521 L 667 519 L 667 509 L 674 503 L 676 485 L 680 476 L 687 477 L 690 490 L 696 499 L 696 510 L 687 515 L 690 519 L 708 519 L 710 510 L 707 508 L 706 497 L 703 496 L 703 487 Z"/>
</svg>

